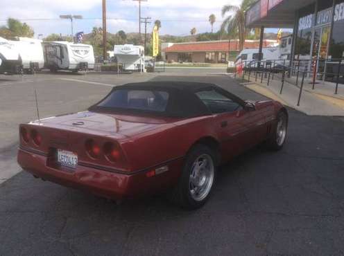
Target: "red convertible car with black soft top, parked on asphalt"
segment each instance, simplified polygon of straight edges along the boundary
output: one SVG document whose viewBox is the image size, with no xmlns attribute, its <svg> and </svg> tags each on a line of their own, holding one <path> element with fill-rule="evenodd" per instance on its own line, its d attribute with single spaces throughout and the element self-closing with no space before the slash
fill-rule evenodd
<svg viewBox="0 0 344 256">
<path fill-rule="evenodd" d="M 216 167 L 265 142 L 281 149 L 288 113 L 214 84 L 117 86 L 87 111 L 22 124 L 17 160 L 36 178 L 121 200 L 169 192 L 202 206 Z"/>
</svg>

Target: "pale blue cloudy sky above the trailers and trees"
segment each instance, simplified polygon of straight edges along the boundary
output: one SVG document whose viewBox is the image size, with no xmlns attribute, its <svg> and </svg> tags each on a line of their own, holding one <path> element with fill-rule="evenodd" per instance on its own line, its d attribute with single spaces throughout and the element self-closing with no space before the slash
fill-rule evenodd
<svg viewBox="0 0 344 256">
<path fill-rule="evenodd" d="M 71 23 L 59 19 L 60 15 L 83 15 L 74 21 L 74 33 L 91 32 L 94 26 L 102 26 L 101 0 L 1 0 L 0 26 L 12 17 L 26 22 L 35 31 L 35 37 L 51 33 L 71 34 Z M 195 27 L 197 33 L 211 31 L 209 15 L 216 15 L 214 31 L 221 26 L 221 8 L 225 4 L 239 5 L 241 0 L 147 0 L 141 2 L 141 16 L 162 21 L 160 34 L 189 35 Z M 133 0 L 107 0 L 107 31 L 117 33 L 139 32 L 139 3 Z M 33 20 L 49 19 L 49 20 Z M 148 24 L 148 32 L 153 29 Z M 144 24 L 141 26 L 144 33 Z M 267 31 L 270 32 L 270 31 Z"/>
</svg>

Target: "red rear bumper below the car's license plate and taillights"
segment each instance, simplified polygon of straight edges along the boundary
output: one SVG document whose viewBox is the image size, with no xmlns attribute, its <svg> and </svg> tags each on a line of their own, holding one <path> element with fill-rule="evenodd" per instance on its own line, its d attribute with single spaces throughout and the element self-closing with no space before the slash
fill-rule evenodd
<svg viewBox="0 0 344 256">
<path fill-rule="evenodd" d="M 120 174 L 78 165 L 74 171 L 55 169 L 46 165 L 47 156 L 19 149 L 17 161 L 23 170 L 47 181 L 71 188 L 86 190 L 109 199 L 132 198 L 168 190 L 178 181 L 182 158 L 164 163 L 169 170 L 148 177 L 149 171 Z"/>
</svg>

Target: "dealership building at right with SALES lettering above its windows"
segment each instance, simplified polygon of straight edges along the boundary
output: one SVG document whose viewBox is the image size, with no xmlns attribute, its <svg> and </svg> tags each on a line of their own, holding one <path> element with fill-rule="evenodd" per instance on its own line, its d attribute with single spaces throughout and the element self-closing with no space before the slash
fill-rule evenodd
<svg viewBox="0 0 344 256">
<path fill-rule="evenodd" d="M 344 0 L 259 0 L 246 26 L 293 28 L 292 60 L 318 60 L 318 73 L 338 71 L 344 58 Z"/>
</svg>

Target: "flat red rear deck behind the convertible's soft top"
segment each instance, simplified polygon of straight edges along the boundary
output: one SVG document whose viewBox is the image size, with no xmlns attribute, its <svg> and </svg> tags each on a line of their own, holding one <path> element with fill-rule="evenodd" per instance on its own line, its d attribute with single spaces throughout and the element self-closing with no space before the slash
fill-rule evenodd
<svg viewBox="0 0 344 256">
<path fill-rule="evenodd" d="M 127 116 L 83 111 L 36 120 L 40 125 L 115 137 L 132 137 L 173 127 L 175 118 Z"/>
</svg>

